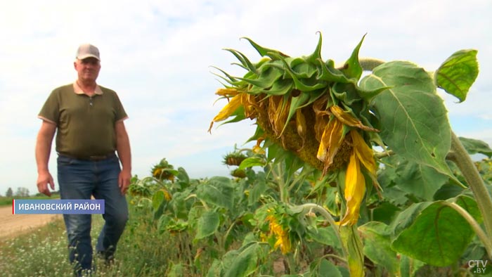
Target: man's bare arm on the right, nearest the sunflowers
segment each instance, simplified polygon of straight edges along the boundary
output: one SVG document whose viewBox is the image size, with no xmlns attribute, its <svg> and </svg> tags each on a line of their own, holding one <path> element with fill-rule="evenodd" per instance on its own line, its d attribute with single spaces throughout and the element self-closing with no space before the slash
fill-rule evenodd
<svg viewBox="0 0 492 277">
<path fill-rule="evenodd" d="M 122 172 L 119 173 L 118 185 L 122 194 L 127 193 L 131 179 L 131 150 L 130 140 L 128 138 L 127 129 L 124 127 L 123 120 L 119 120 L 115 124 L 116 132 L 116 150 L 119 160 L 122 162 Z"/>
</svg>

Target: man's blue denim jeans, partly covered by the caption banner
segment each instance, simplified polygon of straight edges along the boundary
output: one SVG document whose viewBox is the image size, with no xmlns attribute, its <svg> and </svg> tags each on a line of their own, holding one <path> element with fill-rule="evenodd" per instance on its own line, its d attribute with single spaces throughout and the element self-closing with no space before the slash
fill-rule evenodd
<svg viewBox="0 0 492 277">
<path fill-rule="evenodd" d="M 106 259 L 115 253 L 119 237 L 128 220 L 127 199 L 119 191 L 119 159 L 77 160 L 58 156 L 58 183 L 61 199 L 105 200 L 105 224 L 98 237 L 96 250 Z M 67 228 L 69 259 L 80 270 L 91 269 L 91 214 L 63 214 Z"/>
</svg>

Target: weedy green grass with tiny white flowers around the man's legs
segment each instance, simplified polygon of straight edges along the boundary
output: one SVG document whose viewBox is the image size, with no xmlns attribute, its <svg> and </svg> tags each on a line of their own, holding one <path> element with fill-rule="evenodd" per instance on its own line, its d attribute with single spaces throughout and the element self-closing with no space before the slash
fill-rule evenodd
<svg viewBox="0 0 492 277">
<path fill-rule="evenodd" d="M 176 239 L 158 234 L 150 224 L 152 214 L 129 205 L 130 219 L 118 243 L 115 264 L 104 266 L 94 258 L 92 276 L 166 276 L 169 259 L 179 256 Z M 103 225 L 93 216 L 93 247 Z M 1 276 L 73 276 L 68 262 L 67 238 L 63 220 L 54 221 L 31 233 L 0 240 Z"/>
</svg>

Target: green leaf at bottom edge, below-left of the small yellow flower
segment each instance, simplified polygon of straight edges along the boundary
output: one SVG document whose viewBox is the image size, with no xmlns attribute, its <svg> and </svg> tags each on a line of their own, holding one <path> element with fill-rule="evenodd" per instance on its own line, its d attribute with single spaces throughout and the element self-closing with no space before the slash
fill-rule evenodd
<svg viewBox="0 0 492 277">
<path fill-rule="evenodd" d="M 234 257 L 231 267 L 228 268 L 224 277 L 243 277 L 254 273 L 257 269 L 260 250 L 261 248 L 256 242 L 241 247 L 239 255 Z"/>
</svg>

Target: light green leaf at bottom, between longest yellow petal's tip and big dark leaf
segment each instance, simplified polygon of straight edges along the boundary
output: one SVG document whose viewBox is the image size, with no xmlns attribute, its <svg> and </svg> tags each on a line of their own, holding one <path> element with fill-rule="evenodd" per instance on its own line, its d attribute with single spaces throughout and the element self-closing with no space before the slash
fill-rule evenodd
<svg viewBox="0 0 492 277">
<path fill-rule="evenodd" d="M 396 276 L 399 272 L 399 259 L 391 250 L 390 232 L 382 222 L 370 221 L 358 227 L 364 240 L 364 254 L 375 264 L 380 264 Z"/>
</svg>

